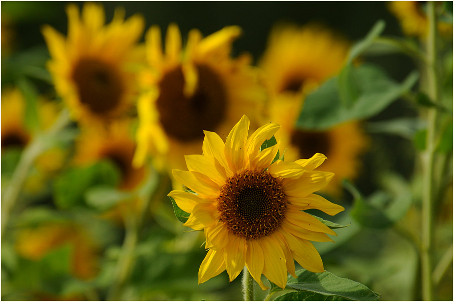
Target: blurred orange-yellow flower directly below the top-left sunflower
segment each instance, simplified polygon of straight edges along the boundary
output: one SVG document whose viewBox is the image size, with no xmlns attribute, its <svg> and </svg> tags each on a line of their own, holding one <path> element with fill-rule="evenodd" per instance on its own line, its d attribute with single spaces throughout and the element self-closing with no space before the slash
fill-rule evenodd
<svg viewBox="0 0 454 302">
<path fill-rule="evenodd" d="M 82 128 L 76 141 L 76 164 L 94 163 L 109 159 L 121 172 L 122 189 L 134 189 L 145 176 L 145 168 L 132 165 L 136 142 L 130 131 L 130 121 L 117 120 L 105 128 Z"/>
</svg>

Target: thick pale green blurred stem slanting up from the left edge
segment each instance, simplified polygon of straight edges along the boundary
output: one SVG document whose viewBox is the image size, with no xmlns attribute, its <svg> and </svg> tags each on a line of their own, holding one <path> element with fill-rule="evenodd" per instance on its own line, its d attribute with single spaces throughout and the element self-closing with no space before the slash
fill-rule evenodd
<svg viewBox="0 0 454 302">
<path fill-rule="evenodd" d="M 2 198 L 2 238 L 4 231 L 8 226 L 11 212 L 15 207 L 19 193 L 25 180 L 27 179 L 27 175 L 29 174 L 30 168 L 35 159 L 49 147 L 47 141 L 55 137 L 58 132 L 68 124 L 69 121 L 69 112 L 66 109 L 62 110 L 54 124 L 47 131 L 37 134 L 24 148 L 21 159 L 16 166 L 11 181 Z"/>
</svg>

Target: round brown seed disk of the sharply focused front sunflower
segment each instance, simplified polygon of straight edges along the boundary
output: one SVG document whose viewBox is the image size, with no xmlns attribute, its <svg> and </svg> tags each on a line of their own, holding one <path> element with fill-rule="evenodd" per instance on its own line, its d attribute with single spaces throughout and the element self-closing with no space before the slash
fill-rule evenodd
<svg viewBox="0 0 454 302">
<path fill-rule="evenodd" d="M 282 179 L 256 169 L 227 178 L 217 200 L 221 220 L 231 232 L 245 238 L 272 233 L 286 209 Z"/>
</svg>

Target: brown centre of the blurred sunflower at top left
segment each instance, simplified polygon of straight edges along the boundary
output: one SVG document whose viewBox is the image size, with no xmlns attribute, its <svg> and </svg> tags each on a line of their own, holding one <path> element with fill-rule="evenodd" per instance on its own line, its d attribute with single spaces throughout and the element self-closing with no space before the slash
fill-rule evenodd
<svg viewBox="0 0 454 302">
<path fill-rule="evenodd" d="M 97 59 L 80 59 L 72 77 L 81 103 L 94 114 L 103 115 L 117 108 L 125 92 L 119 70 Z"/>
</svg>

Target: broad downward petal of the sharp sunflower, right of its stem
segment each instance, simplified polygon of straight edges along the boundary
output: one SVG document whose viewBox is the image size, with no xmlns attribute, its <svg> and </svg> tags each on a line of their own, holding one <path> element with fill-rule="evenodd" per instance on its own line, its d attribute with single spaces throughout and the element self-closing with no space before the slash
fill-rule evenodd
<svg viewBox="0 0 454 302">
<path fill-rule="evenodd" d="M 287 264 L 282 247 L 270 237 L 260 237 L 258 241 L 266 259 L 263 274 L 271 282 L 284 289 L 287 284 Z"/>
</svg>

